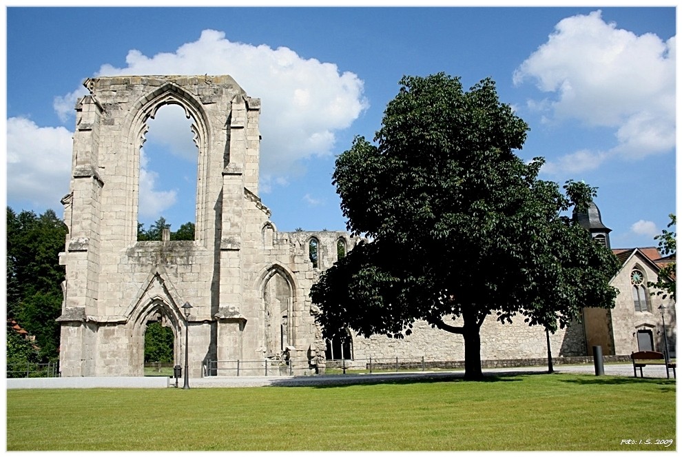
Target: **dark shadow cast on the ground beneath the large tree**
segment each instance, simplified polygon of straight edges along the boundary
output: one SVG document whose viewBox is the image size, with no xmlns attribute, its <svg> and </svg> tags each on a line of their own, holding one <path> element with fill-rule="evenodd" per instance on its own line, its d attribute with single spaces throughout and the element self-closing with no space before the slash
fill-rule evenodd
<svg viewBox="0 0 682 457">
<path fill-rule="evenodd" d="M 422 383 L 506 383 L 523 380 L 523 376 L 542 374 L 538 372 L 513 372 L 484 374 L 479 380 L 464 380 L 464 372 L 455 373 L 424 373 L 424 374 L 333 374 L 311 376 L 297 376 L 273 382 L 273 387 L 348 387 L 351 385 L 406 385 Z"/>
</svg>

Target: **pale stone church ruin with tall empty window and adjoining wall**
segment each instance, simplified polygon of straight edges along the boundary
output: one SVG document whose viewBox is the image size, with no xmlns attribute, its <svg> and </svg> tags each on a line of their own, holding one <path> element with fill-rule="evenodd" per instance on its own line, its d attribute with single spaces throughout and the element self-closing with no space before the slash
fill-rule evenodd
<svg viewBox="0 0 682 457">
<path fill-rule="evenodd" d="M 282 360 L 296 363 L 296 374 L 318 373 L 332 357 L 463 360 L 461 336 L 420 322 L 404 340 L 349 334 L 345 344 L 324 341 L 310 287 L 363 241 L 347 232 L 276 230 L 258 196 L 260 99 L 234 79 L 120 76 L 84 85 L 90 94 L 76 103 L 70 193 L 62 199 L 69 230 L 57 319 L 62 376 L 143 376 L 145 330 L 152 322 L 172 329 L 174 360 L 181 365 L 185 303 L 192 305 L 191 377 L 234 375 L 227 368 L 237 360 L 254 362 L 242 365 L 241 374 L 262 374 L 267 363 Z M 147 121 L 164 105 L 179 105 L 192 119 L 194 241 L 137 241 L 140 150 Z M 609 325 L 604 321 L 599 331 Z M 586 355 L 585 332 L 584 326 L 560 330 L 551 336 L 552 351 Z M 546 356 L 542 328 L 490 320 L 481 334 L 483 359 Z M 630 354 L 630 347 L 617 353 Z M 216 361 L 226 364 L 224 373 Z"/>
</svg>

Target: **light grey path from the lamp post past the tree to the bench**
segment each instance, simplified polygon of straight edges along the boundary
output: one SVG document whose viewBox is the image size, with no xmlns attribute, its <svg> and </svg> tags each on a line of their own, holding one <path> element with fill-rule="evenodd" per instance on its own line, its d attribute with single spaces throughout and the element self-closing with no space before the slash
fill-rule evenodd
<svg viewBox="0 0 682 457">
<path fill-rule="evenodd" d="M 647 378 L 665 378 L 665 367 L 662 365 L 649 365 L 644 367 L 644 376 Z M 508 367 L 484 369 L 484 376 L 499 374 L 532 374 L 546 373 L 547 367 Z M 584 373 L 595 374 L 595 365 L 555 365 L 557 373 Z M 639 372 L 639 370 L 638 370 Z M 618 363 L 604 365 L 606 376 L 630 376 L 634 377 L 632 365 Z M 391 380 L 406 379 L 434 379 L 448 380 L 464 376 L 464 370 L 451 372 L 403 372 L 382 374 L 330 374 L 322 376 L 211 376 L 209 378 L 194 378 L 189 380 L 189 387 L 300 387 L 313 385 L 348 385 L 360 383 L 386 383 Z M 672 378 L 672 374 L 671 374 Z"/>
</svg>

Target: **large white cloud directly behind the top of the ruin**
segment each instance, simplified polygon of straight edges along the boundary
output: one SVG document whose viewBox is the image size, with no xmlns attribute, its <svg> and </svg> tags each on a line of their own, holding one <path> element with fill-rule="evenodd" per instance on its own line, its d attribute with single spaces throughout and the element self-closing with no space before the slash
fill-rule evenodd
<svg viewBox="0 0 682 457">
<path fill-rule="evenodd" d="M 286 182 L 299 159 L 329 154 L 335 132 L 349 127 L 367 106 L 355 74 L 289 48 L 234 43 L 216 30 L 204 30 L 175 52 L 147 57 L 131 50 L 126 63 L 125 68 L 102 65 L 99 74 L 229 74 L 249 96 L 260 98 L 263 190 Z"/>
</svg>

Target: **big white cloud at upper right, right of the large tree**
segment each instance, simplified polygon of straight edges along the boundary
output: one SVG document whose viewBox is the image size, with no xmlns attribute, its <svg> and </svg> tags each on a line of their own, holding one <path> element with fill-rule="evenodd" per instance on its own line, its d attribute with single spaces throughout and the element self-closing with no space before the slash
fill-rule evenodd
<svg viewBox="0 0 682 457">
<path fill-rule="evenodd" d="M 674 148 L 675 37 L 637 36 L 603 21 L 600 11 L 568 17 L 517 68 L 514 81 L 533 81 L 554 94 L 528 103 L 549 122 L 577 119 L 587 127 L 614 130 L 610 150 L 575 153 L 590 160 L 564 158 L 569 171 Z M 552 167 L 561 169 L 561 163 L 548 163 L 546 170 Z"/>
</svg>

